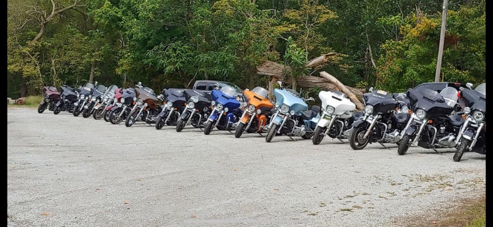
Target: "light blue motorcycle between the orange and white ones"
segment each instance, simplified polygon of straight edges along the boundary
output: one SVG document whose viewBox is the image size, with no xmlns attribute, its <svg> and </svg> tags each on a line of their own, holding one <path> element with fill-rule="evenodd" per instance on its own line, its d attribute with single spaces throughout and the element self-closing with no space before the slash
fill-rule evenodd
<svg viewBox="0 0 493 227">
<path fill-rule="evenodd" d="M 308 110 L 306 101 L 313 101 L 312 97 L 303 99 L 298 92 L 282 88 L 282 83 L 280 81 L 278 83 L 281 89 L 274 89 L 276 111 L 272 115 L 273 120 L 269 124 L 265 141 L 270 142 L 276 134 L 289 137 L 301 136 L 303 139 L 312 138 L 320 119 L 320 107 L 312 106 L 312 110 Z"/>
</svg>

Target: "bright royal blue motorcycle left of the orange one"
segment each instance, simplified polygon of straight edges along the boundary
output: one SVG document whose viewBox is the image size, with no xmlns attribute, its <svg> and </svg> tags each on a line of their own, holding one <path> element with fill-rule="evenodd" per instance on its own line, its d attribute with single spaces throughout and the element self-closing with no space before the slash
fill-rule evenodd
<svg viewBox="0 0 493 227">
<path fill-rule="evenodd" d="M 212 96 L 212 112 L 205 123 L 204 134 L 209 135 L 214 127 L 219 130 L 230 130 L 243 114 L 240 102 L 236 98 L 237 91 L 232 87 L 214 89 Z"/>
</svg>

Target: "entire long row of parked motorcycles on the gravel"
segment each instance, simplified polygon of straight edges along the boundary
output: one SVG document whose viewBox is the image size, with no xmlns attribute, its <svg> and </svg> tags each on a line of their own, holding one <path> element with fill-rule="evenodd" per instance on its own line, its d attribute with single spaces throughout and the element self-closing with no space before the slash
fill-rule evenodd
<svg viewBox="0 0 493 227">
<path fill-rule="evenodd" d="M 164 89 L 156 95 L 139 82 L 135 88 L 86 83 L 77 89 L 63 85 L 44 87 L 45 98 L 38 113 L 46 109 L 54 114 L 69 112 L 74 116 L 92 115 L 112 124 L 125 121 L 127 127 L 137 121 L 165 125 L 177 132 L 188 125 L 208 135 L 214 128 L 227 130 L 236 138 L 243 133 L 267 133 L 274 136 L 300 136 L 320 144 L 324 137 L 348 139 L 354 150 L 368 143 L 398 144 L 404 155 L 412 144 L 427 149 L 456 148 L 454 161 L 465 152 L 486 154 L 486 83 L 473 89 L 468 83 L 460 89 L 446 87 L 440 92 L 428 88 L 409 89 L 404 93 L 373 90 L 363 95 L 364 110 L 356 111 L 351 100 L 339 91 L 321 91 L 322 108 L 307 102 L 295 90 L 273 90 L 275 101 L 262 87 L 239 91 L 237 86 L 219 83 L 212 90 Z M 262 135 L 262 134 L 261 134 Z"/>
</svg>

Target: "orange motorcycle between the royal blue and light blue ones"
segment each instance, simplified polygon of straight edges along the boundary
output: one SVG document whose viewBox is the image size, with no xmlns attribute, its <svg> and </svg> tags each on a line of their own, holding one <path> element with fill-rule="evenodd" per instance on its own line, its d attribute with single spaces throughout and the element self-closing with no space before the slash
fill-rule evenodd
<svg viewBox="0 0 493 227">
<path fill-rule="evenodd" d="M 255 87 L 251 91 L 245 89 L 243 95 L 246 99 L 243 108 L 245 109 L 238 127 L 235 132 L 235 137 L 240 138 L 244 131 L 246 132 L 263 132 L 267 131 L 264 127 L 268 117 L 272 114 L 271 110 L 274 107 L 267 96 L 269 91 L 262 87 Z"/>
</svg>

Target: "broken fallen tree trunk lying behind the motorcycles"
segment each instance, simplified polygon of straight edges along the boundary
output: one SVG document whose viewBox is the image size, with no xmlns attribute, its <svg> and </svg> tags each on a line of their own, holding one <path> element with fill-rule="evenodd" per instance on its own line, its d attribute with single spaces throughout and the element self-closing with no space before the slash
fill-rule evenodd
<svg viewBox="0 0 493 227">
<path fill-rule="evenodd" d="M 329 60 L 330 56 L 334 56 L 337 53 L 329 53 L 326 55 L 322 55 L 320 57 L 316 57 L 310 60 L 305 66 L 308 68 L 313 68 L 319 66 Z M 280 80 L 283 84 L 290 85 L 291 77 L 289 75 L 291 73 L 291 68 L 289 66 L 274 62 L 274 61 L 263 61 L 260 65 L 257 66 L 257 74 L 271 76 L 271 80 L 269 81 L 269 96 L 272 94 L 272 87 L 276 81 Z M 322 90 L 334 90 L 340 91 L 347 95 L 347 97 L 356 105 L 356 109 L 361 111 L 363 110 L 363 93 L 364 89 L 352 88 L 349 86 L 345 86 L 342 84 L 337 78 L 330 75 L 329 73 L 322 71 L 320 72 L 320 76 L 313 75 L 305 75 L 296 78 L 296 84 L 298 87 L 319 87 Z M 270 97 L 269 97 L 270 98 Z"/>
</svg>

